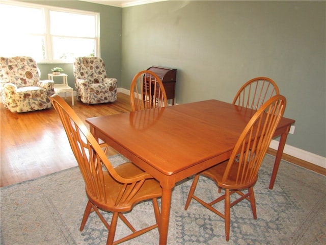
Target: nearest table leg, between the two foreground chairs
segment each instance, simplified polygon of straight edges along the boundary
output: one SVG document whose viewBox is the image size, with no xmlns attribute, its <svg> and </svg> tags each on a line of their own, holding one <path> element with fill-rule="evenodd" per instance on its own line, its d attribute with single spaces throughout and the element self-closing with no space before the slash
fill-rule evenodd
<svg viewBox="0 0 326 245">
<path fill-rule="evenodd" d="M 161 224 L 159 230 L 159 244 L 166 245 L 168 241 L 169 218 L 171 208 L 172 188 L 162 188 Z"/>
</svg>

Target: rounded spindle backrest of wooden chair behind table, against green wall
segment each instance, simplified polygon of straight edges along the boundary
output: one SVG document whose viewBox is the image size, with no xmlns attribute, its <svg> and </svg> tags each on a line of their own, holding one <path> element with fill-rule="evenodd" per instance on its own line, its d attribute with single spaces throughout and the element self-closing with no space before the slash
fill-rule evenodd
<svg viewBox="0 0 326 245">
<path fill-rule="evenodd" d="M 258 110 L 270 97 L 280 94 L 277 84 L 270 78 L 258 77 L 243 84 L 233 104 Z"/>
</svg>

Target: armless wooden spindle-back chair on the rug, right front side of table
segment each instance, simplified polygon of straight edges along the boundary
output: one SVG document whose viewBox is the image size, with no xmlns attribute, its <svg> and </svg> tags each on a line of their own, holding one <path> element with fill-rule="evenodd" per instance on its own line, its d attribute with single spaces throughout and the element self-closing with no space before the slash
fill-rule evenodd
<svg viewBox="0 0 326 245">
<path fill-rule="evenodd" d="M 217 164 L 195 176 L 185 204 L 187 210 L 192 199 L 225 219 L 225 236 L 229 240 L 230 208 L 247 199 L 251 203 L 254 219 L 257 218 L 253 186 L 258 179 L 258 170 L 268 149 L 271 138 L 281 119 L 286 106 L 282 95 L 275 95 L 263 104 L 254 114 L 238 138 L 229 160 Z M 194 194 L 199 176 L 212 179 L 218 187 L 225 189 L 225 194 L 211 202 L 205 202 Z M 247 193 L 242 192 L 247 190 Z M 218 191 L 216 191 L 218 192 Z M 220 191 L 219 191 L 220 192 Z M 237 193 L 237 200 L 230 203 L 230 195 Z M 224 214 L 213 205 L 224 200 Z"/>
</svg>

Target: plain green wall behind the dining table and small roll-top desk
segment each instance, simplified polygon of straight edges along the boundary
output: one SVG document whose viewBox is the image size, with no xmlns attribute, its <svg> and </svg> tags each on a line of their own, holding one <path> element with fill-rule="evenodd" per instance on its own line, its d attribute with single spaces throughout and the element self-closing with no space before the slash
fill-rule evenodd
<svg viewBox="0 0 326 245">
<path fill-rule="evenodd" d="M 232 102 L 273 79 L 295 132 L 287 144 L 326 156 L 325 1 L 168 1 L 122 9 L 122 87 L 152 65 L 177 68 L 176 103 Z M 200 135 L 198 136 L 200 137 Z"/>
</svg>

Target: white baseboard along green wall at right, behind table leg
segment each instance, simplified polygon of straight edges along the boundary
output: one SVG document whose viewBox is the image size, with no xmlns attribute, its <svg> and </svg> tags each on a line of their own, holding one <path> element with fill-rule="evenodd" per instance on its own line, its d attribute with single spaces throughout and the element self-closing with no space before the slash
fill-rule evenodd
<svg viewBox="0 0 326 245">
<path fill-rule="evenodd" d="M 279 147 L 279 141 L 272 140 L 269 144 L 269 147 L 271 149 L 277 150 Z M 292 157 L 296 157 L 298 159 L 310 162 L 317 166 L 326 168 L 326 158 L 325 157 L 316 155 L 311 152 L 304 151 L 302 149 L 295 148 L 294 146 L 285 144 L 283 153 L 290 155 Z"/>
</svg>

